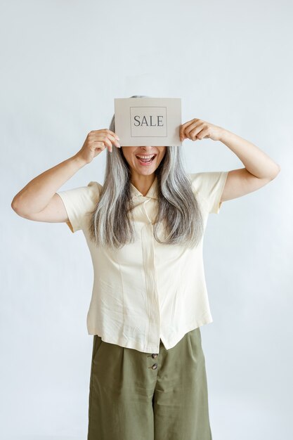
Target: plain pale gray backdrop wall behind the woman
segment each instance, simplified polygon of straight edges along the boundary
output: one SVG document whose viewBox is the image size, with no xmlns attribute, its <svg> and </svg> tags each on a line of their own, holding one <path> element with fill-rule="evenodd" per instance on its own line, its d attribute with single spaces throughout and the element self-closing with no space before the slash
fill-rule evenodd
<svg viewBox="0 0 293 440">
<path fill-rule="evenodd" d="M 201 331 L 213 439 L 292 438 L 292 4 L 2 1 L 0 30 L 1 439 L 86 439 L 89 250 L 11 200 L 135 94 L 181 97 L 184 122 L 225 127 L 280 164 L 209 217 L 214 322 Z M 188 172 L 243 166 L 220 142 L 183 148 Z M 103 183 L 105 155 L 63 189 Z"/>
</svg>

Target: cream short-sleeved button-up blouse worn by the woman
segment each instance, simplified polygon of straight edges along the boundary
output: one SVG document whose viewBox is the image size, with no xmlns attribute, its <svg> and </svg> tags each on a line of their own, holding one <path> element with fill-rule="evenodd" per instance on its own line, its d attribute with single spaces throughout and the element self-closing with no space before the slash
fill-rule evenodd
<svg viewBox="0 0 293 440">
<path fill-rule="evenodd" d="M 188 174 L 202 208 L 218 214 L 228 172 Z M 159 352 L 159 339 L 171 349 L 185 335 L 213 321 L 202 259 L 203 236 L 193 249 L 164 245 L 153 237 L 157 177 L 143 196 L 131 183 L 138 239 L 122 249 L 96 247 L 89 240 L 89 212 L 98 202 L 100 183 L 59 191 L 72 232 L 82 229 L 93 261 L 93 290 L 86 325 L 89 335 L 145 353 Z"/>
</svg>

